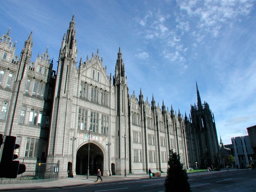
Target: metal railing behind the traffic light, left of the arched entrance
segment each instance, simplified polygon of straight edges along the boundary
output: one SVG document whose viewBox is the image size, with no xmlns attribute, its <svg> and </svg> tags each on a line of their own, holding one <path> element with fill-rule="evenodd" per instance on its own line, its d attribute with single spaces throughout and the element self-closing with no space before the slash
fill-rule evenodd
<svg viewBox="0 0 256 192">
<path fill-rule="evenodd" d="M 0 178 L 0 180 L 40 180 L 58 178 L 58 164 L 52 163 L 23 163 L 26 171 L 15 179 Z"/>
</svg>

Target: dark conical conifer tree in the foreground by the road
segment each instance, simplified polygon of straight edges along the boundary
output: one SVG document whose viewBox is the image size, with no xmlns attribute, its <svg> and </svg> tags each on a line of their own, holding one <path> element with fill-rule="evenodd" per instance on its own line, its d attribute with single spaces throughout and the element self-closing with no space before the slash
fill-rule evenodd
<svg viewBox="0 0 256 192">
<path fill-rule="evenodd" d="M 188 182 L 188 175 L 183 169 L 183 164 L 180 163 L 180 155 L 170 150 L 170 157 L 168 161 L 168 171 L 165 179 L 165 191 L 172 192 L 189 192 L 190 184 Z"/>
</svg>

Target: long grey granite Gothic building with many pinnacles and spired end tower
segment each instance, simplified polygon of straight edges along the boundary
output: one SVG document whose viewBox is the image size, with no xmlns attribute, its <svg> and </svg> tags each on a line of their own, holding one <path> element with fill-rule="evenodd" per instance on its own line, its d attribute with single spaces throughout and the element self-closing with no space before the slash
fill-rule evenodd
<svg viewBox="0 0 256 192">
<path fill-rule="evenodd" d="M 17 136 L 23 162 L 59 163 L 59 176 L 125 175 L 168 169 L 169 151 L 186 168 L 219 165 L 214 117 L 208 104 L 191 115 L 129 94 L 121 48 L 107 75 L 99 50 L 77 63 L 75 18 L 63 36 L 57 72 L 48 48 L 31 61 L 32 32 L 21 55 L 9 36 L 0 42 L 0 132 Z M 216 144 L 216 146 L 215 146 Z"/>
</svg>

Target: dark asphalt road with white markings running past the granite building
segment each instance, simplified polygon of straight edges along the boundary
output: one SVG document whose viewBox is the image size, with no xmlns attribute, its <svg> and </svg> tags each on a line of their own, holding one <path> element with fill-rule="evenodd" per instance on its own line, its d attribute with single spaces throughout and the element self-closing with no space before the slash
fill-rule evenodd
<svg viewBox="0 0 256 192">
<path fill-rule="evenodd" d="M 225 191 L 225 192 L 252 192 L 256 191 L 256 170 L 238 170 L 238 171 L 210 171 L 210 173 L 201 173 L 197 174 L 189 174 L 189 183 L 191 186 L 191 190 L 193 192 L 199 191 Z M 23 192 L 31 191 L 93 191 L 93 192 L 104 192 L 104 191 L 155 191 L 155 192 L 163 192 L 165 190 L 164 181 L 165 176 L 161 178 L 151 178 L 146 177 L 135 177 L 135 176 L 127 176 L 127 177 L 119 177 L 112 176 L 104 178 L 103 182 L 95 183 L 91 177 L 91 181 L 83 180 L 84 178 L 76 179 L 78 185 L 74 186 L 74 183 L 70 183 L 70 185 L 55 185 L 53 188 L 46 189 L 45 187 L 38 188 L 24 188 Z M 55 181 L 56 183 L 61 182 L 62 180 Z M 66 180 L 73 182 L 72 179 Z M 84 183 L 86 182 L 87 183 Z M 45 183 L 45 186 L 49 186 L 49 183 Z M 0 186 L 1 188 L 1 186 Z M 43 189 L 45 188 L 45 189 Z M 20 191 L 12 190 L 9 188 L 9 191 Z M 29 189 L 29 190 L 28 190 Z"/>
</svg>

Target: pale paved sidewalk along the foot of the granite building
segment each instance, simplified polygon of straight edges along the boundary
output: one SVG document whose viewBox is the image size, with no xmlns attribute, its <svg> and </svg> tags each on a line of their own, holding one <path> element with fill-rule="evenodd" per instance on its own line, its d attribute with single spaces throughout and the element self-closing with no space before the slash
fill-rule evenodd
<svg viewBox="0 0 256 192">
<path fill-rule="evenodd" d="M 220 171 L 203 171 L 198 173 L 188 173 L 189 178 L 198 175 L 210 175 L 210 174 L 218 174 L 227 170 L 220 170 Z M 230 169 L 230 171 L 239 171 L 237 169 Z M 149 178 L 147 174 L 144 175 L 127 175 L 127 176 L 102 176 L 102 182 L 109 182 L 109 181 L 120 181 L 120 180 L 129 180 L 129 179 L 146 179 Z M 161 178 L 166 178 L 166 174 L 162 174 Z M 95 180 L 97 176 L 90 176 L 89 179 L 86 179 L 86 175 L 77 175 L 75 178 L 66 178 L 66 179 L 57 179 L 57 180 L 25 180 L 19 184 L 1 184 L 0 191 L 8 191 L 8 190 L 24 190 L 24 189 L 49 189 L 49 188 L 62 188 L 68 186 L 78 186 L 78 185 L 85 185 L 85 184 L 95 184 Z M 27 181 L 27 182 L 26 182 Z"/>
</svg>

